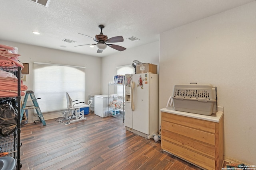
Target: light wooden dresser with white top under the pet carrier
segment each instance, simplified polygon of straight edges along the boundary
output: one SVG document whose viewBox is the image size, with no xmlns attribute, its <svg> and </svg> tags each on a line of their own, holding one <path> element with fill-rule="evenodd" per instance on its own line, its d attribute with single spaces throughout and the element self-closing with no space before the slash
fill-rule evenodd
<svg viewBox="0 0 256 170">
<path fill-rule="evenodd" d="M 223 112 L 211 116 L 161 109 L 161 149 L 206 170 L 223 162 Z"/>
</svg>

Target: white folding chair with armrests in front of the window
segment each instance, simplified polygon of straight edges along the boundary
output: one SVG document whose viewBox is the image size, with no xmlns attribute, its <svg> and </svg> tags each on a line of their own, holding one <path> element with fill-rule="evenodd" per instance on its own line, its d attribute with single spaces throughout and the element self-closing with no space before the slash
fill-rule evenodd
<svg viewBox="0 0 256 170">
<path fill-rule="evenodd" d="M 81 103 L 84 103 L 84 102 L 78 102 L 78 100 L 72 101 L 68 92 L 66 92 L 66 98 L 67 98 L 67 108 L 68 108 L 68 113 L 70 115 L 70 119 L 67 123 L 65 123 L 65 125 L 69 125 L 70 123 L 79 121 L 79 120 L 86 120 L 86 117 L 84 117 L 84 110 L 81 108 L 84 108 L 84 107 L 89 108 L 90 104 L 92 103 L 92 100 L 88 100 L 88 104 L 81 105 Z M 73 104 L 73 102 L 77 102 L 77 103 Z M 73 117 L 76 117 L 76 119 L 71 120 Z"/>
</svg>

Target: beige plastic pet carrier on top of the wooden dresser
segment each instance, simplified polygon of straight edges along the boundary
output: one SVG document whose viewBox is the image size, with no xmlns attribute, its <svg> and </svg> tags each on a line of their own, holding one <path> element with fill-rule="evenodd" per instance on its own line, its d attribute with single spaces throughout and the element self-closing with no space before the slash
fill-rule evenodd
<svg viewBox="0 0 256 170">
<path fill-rule="evenodd" d="M 176 84 L 172 99 L 177 111 L 201 115 L 216 113 L 216 87 L 211 84 Z"/>
</svg>

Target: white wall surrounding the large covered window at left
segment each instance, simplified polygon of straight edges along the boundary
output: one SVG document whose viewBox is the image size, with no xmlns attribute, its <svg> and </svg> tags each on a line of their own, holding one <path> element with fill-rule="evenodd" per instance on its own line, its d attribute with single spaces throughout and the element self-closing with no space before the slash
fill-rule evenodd
<svg viewBox="0 0 256 170">
<path fill-rule="evenodd" d="M 24 82 L 24 84 L 28 86 L 28 90 L 33 90 L 33 77 L 34 77 L 33 62 L 41 62 L 41 63 L 53 63 L 53 64 L 64 64 L 64 65 L 86 67 L 86 87 L 85 87 L 86 102 L 88 100 L 88 95 L 95 95 L 100 93 L 101 84 L 97 83 L 101 77 L 101 58 L 100 57 L 91 57 L 91 56 L 86 56 L 78 53 L 70 53 L 67 51 L 60 51 L 60 50 L 49 49 L 49 48 L 38 47 L 34 45 L 16 43 L 16 42 L 10 42 L 10 41 L 0 40 L 0 44 L 9 45 L 12 47 L 18 47 L 18 53 L 21 55 L 20 62 L 29 63 L 30 74 L 26 75 L 26 81 Z M 76 86 L 76 82 L 74 82 L 74 86 Z M 36 98 L 40 98 L 40 96 L 36 96 Z M 59 117 L 59 115 L 57 117 Z M 30 115 L 28 116 L 29 122 L 34 122 L 34 120 L 36 119 L 37 117 L 30 116 Z M 44 116 L 44 119 L 47 119 L 47 116 Z"/>
</svg>

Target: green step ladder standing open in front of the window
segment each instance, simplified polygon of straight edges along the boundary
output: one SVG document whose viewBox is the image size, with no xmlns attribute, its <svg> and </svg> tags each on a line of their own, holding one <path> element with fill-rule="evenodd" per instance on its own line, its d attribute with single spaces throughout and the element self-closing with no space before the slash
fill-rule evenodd
<svg viewBox="0 0 256 170">
<path fill-rule="evenodd" d="M 32 106 L 26 106 L 27 100 L 28 100 L 28 95 L 30 95 L 30 97 L 32 99 L 32 102 L 34 104 L 33 107 Z M 20 122 L 22 121 L 22 117 L 23 117 L 23 113 L 24 113 L 25 109 L 36 109 L 36 113 L 37 113 L 38 117 L 40 118 L 40 121 L 45 126 L 46 123 L 44 121 L 44 116 L 43 116 L 42 111 L 40 110 L 40 107 L 39 107 L 38 102 L 36 100 L 37 99 L 35 97 L 34 92 L 32 90 L 27 90 L 24 101 L 23 101 L 23 104 L 22 104 L 21 112 L 20 112 Z M 27 108 L 27 107 L 29 107 L 29 108 Z M 36 121 L 35 121 L 35 123 L 36 123 Z"/>
</svg>

